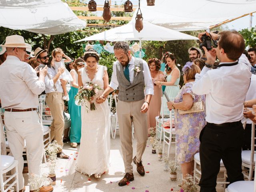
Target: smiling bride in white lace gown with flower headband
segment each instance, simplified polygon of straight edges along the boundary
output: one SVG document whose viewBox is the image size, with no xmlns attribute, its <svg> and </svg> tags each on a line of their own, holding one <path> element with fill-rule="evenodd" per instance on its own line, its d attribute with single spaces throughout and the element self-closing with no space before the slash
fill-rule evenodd
<svg viewBox="0 0 256 192">
<path fill-rule="evenodd" d="M 99 55 L 94 49 L 84 53 L 84 60 L 87 65 L 79 70 L 78 86 L 92 82 L 102 90 L 81 107 L 82 134 L 76 170 L 100 178 L 109 167 L 110 119 L 108 101 L 102 105 L 95 100 L 108 87 L 108 73 L 106 66 L 97 65 Z M 85 104 L 90 106 L 90 102 L 94 102 L 96 110 L 87 112 Z"/>
</svg>

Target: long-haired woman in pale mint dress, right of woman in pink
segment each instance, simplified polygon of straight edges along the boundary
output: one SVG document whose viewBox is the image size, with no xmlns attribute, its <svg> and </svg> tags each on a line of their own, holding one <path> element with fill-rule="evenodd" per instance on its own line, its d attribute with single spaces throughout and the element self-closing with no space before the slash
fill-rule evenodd
<svg viewBox="0 0 256 192">
<path fill-rule="evenodd" d="M 167 93 L 168 97 L 173 100 L 178 92 L 180 91 L 180 70 L 176 66 L 176 58 L 173 54 L 168 54 L 165 58 L 166 65 L 166 74 L 167 80 L 166 82 L 156 81 L 157 85 L 165 85 L 165 92 Z M 168 108 L 164 108 L 164 110 L 168 110 Z"/>
</svg>

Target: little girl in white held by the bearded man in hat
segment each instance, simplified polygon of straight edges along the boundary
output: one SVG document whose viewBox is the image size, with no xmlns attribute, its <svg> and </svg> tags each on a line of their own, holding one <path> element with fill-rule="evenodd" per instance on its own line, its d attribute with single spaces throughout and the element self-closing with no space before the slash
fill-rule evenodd
<svg viewBox="0 0 256 192">
<path fill-rule="evenodd" d="M 62 57 L 66 58 L 66 59 L 62 59 Z M 72 60 L 64 54 L 64 52 L 62 51 L 61 48 L 55 48 L 52 51 L 51 65 L 54 67 L 56 72 L 58 72 L 59 67 L 65 67 L 65 62 L 71 62 L 71 61 Z M 60 79 L 67 80 L 68 82 L 73 81 L 73 78 L 67 69 L 64 71 L 64 73 L 62 73 L 60 75 Z M 63 92 L 64 92 L 64 96 L 62 97 L 62 99 L 68 101 L 69 96 L 68 96 L 66 85 L 62 84 L 61 86 L 62 86 Z"/>
</svg>

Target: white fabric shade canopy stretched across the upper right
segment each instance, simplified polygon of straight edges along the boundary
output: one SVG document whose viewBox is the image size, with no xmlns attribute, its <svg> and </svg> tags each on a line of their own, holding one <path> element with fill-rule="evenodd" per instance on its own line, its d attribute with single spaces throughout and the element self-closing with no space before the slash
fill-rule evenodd
<svg viewBox="0 0 256 192">
<path fill-rule="evenodd" d="M 178 31 L 206 29 L 256 11 L 255 0 L 156 0 L 155 6 L 146 4 L 141 1 L 143 21 Z"/>
</svg>

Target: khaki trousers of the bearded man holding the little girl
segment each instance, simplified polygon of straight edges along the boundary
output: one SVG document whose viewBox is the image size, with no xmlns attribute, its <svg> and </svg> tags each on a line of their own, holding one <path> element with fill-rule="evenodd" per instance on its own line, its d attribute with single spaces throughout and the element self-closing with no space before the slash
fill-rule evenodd
<svg viewBox="0 0 256 192">
<path fill-rule="evenodd" d="M 62 100 L 62 93 L 60 92 L 46 93 L 45 102 L 50 108 L 52 118 L 53 118 L 52 124 L 50 126 L 51 140 L 54 138 L 57 141 L 57 143 L 61 147 L 63 147 L 62 134 L 64 130 L 64 116 L 63 116 L 64 102 Z"/>
</svg>

